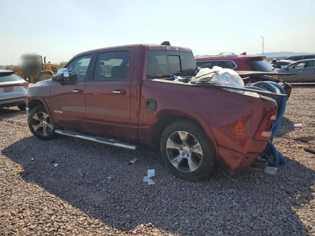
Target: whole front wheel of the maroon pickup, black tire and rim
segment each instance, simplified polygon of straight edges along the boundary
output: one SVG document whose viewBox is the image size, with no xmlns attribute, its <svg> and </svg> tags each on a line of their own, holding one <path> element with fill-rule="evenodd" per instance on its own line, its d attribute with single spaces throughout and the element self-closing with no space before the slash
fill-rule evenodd
<svg viewBox="0 0 315 236">
<path fill-rule="evenodd" d="M 28 116 L 28 125 L 34 136 L 43 140 L 50 140 L 57 136 L 45 108 L 41 105 L 33 107 Z"/>
</svg>

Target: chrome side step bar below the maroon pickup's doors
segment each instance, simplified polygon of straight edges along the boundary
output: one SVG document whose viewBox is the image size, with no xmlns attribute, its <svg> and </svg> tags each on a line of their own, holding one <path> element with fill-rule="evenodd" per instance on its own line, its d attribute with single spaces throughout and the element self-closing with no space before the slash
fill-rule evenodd
<svg viewBox="0 0 315 236">
<path fill-rule="evenodd" d="M 55 133 L 65 135 L 65 136 L 71 136 L 74 138 L 85 139 L 85 140 L 89 140 L 89 141 L 100 143 L 100 144 L 106 144 L 106 145 L 115 146 L 115 147 L 119 147 L 119 148 L 126 148 L 129 150 L 135 150 L 136 149 L 136 146 L 132 145 L 132 144 L 122 143 L 122 142 L 120 142 L 118 140 L 114 140 L 114 139 L 107 139 L 107 138 L 103 138 L 103 137 L 80 134 L 78 132 L 74 132 L 74 131 L 70 131 L 70 130 L 56 129 Z"/>
</svg>

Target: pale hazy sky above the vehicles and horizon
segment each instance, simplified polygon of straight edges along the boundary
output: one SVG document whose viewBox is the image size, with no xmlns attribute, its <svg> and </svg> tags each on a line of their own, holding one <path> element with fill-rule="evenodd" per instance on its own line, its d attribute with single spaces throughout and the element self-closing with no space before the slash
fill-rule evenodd
<svg viewBox="0 0 315 236">
<path fill-rule="evenodd" d="M 133 43 L 220 52 L 315 52 L 315 0 L 0 0 L 0 64 Z"/>
</svg>

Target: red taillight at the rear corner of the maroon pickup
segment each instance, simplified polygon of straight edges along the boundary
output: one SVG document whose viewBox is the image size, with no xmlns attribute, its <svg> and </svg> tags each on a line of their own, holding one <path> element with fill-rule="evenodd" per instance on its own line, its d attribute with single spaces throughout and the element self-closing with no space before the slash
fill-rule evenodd
<svg viewBox="0 0 315 236">
<path fill-rule="evenodd" d="M 268 142 L 272 133 L 272 126 L 277 117 L 277 111 L 270 111 L 262 120 L 254 140 Z"/>
</svg>

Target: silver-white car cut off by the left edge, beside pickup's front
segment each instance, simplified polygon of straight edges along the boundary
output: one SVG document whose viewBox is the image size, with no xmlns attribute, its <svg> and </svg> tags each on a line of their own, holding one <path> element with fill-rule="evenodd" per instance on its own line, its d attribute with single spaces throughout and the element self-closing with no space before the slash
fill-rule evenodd
<svg viewBox="0 0 315 236">
<path fill-rule="evenodd" d="M 26 109 L 26 93 L 29 83 L 10 70 L 0 69 L 0 108 Z"/>
</svg>

